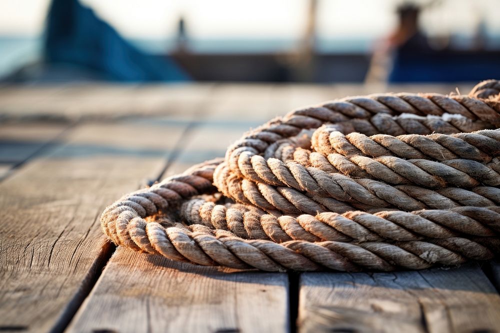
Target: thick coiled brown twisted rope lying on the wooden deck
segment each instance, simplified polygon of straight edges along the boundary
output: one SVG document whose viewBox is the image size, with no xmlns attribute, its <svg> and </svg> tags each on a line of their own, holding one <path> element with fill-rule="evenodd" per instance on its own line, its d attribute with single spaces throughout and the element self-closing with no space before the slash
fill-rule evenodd
<svg viewBox="0 0 500 333">
<path fill-rule="evenodd" d="M 500 82 L 292 111 L 105 209 L 116 245 L 264 271 L 391 271 L 500 253 Z"/>
</svg>

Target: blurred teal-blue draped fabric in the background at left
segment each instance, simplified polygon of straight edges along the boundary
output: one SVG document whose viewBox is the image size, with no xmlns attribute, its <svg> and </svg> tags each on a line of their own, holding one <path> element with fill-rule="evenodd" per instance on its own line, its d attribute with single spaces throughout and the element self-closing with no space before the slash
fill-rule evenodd
<svg viewBox="0 0 500 333">
<path fill-rule="evenodd" d="M 86 68 L 108 80 L 189 79 L 171 58 L 141 52 L 77 0 L 52 0 L 44 53 L 49 64 L 64 63 Z"/>
</svg>

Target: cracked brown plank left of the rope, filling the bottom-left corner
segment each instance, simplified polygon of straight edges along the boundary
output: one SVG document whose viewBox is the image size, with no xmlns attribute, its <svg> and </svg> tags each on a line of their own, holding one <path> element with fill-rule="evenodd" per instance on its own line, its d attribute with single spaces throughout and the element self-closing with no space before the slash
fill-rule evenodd
<svg viewBox="0 0 500 333">
<path fill-rule="evenodd" d="M 0 184 L 0 330 L 61 331 L 109 253 L 104 207 L 157 172 L 182 128 L 85 124 Z"/>
</svg>

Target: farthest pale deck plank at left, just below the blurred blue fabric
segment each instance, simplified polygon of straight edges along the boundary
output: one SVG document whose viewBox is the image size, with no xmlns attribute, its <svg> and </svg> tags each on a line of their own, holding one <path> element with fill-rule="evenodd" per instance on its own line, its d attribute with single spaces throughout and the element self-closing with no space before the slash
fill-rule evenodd
<svg viewBox="0 0 500 333">
<path fill-rule="evenodd" d="M 126 116 L 195 114 L 211 84 L 0 87 L 0 114 L 5 118 L 117 119 Z"/>
</svg>

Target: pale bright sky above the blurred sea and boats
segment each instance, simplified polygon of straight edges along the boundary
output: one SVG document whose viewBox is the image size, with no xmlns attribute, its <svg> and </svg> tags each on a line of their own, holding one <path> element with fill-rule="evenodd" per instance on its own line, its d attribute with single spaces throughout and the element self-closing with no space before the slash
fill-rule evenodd
<svg viewBox="0 0 500 333">
<path fill-rule="evenodd" d="M 49 0 L 0 0 L 0 35 L 42 31 Z M 185 18 L 195 38 L 298 38 L 305 26 L 307 0 L 81 0 L 132 38 L 164 38 Z M 387 34 L 401 0 L 320 0 L 317 32 L 324 38 Z M 428 3 L 431 0 L 416 1 Z M 437 0 L 422 23 L 430 33 L 469 33 L 479 17 L 500 34 L 499 0 Z"/>
</svg>

